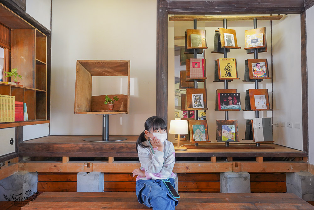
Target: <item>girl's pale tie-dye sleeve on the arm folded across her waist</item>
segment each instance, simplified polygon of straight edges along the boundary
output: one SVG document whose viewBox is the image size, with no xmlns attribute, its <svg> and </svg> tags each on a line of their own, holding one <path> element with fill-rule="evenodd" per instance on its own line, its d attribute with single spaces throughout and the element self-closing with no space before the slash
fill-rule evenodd
<svg viewBox="0 0 314 210">
<path fill-rule="evenodd" d="M 161 170 L 157 173 L 152 173 L 151 171 L 146 170 L 145 171 L 146 179 L 162 179 L 174 176 L 174 174 L 172 173 L 172 169 L 176 162 L 175 149 L 172 143 L 167 146 L 170 147 L 170 150 Z"/>
</svg>

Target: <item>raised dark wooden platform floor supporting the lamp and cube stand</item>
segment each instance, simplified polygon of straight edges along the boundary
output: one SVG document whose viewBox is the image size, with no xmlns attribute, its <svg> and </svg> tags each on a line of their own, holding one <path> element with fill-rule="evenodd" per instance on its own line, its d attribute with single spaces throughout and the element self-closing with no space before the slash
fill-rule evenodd
<svg viewBox="0 0 314 210">
<path fill-rule="evenodd" d="M 84 138 L 92 136 L 46 136 L 23 141 L 19 144 L 19 156 L 70 156 L 70 157 L 138 157 L 135 142 L 138 136 L 125 136 L 127 140 L 117 142 L 88 142 Z M 250 142 L 251 143 L 251 142 Z M 182 144 L 186 144 L 182 142 Z M 182 145 L 181 144 L 181 145 Z M 176 145 L 176 143 L 175 143 Z M 191 144 L 190 145 L 194 145 Z M 226 148 L 224 143 L 199 143 L 197 149 L 176 151 L 177 157 L 306 157 L 300 150 L 265 143 L 256 147 L 253 142 L 230 143 Z M 263 149 L 263 146 L 274 149 Z M 236 148 L 236 147 L 242 147 Z M 243 149 L 246 147 L 246 149 Z"/>
</svg>

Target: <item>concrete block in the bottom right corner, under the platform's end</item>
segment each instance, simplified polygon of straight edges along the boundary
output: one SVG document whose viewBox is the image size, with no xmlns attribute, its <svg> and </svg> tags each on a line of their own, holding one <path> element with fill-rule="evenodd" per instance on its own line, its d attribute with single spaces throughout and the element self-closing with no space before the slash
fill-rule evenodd
<svg viewBox="0 0 314 210">
<path fill-rule="evenodd" d="M 286 173 L 287 192 L 305 201 L 314 201 L 314 175 L 309 172 Z"/>
</svg>

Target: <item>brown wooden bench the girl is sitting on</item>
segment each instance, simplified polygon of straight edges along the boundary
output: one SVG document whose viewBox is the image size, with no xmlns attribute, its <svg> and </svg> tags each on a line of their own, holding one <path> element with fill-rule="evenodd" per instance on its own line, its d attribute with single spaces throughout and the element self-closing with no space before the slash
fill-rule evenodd
<svg viewBox="0 0 314 210">
<path fill-rule="evenodd" d="M 176 209 L 314 209 L 292 193 L 179 193 Z M 147 209 L 131 192 L 43 192 L 29 209 Z"/>
</svg>

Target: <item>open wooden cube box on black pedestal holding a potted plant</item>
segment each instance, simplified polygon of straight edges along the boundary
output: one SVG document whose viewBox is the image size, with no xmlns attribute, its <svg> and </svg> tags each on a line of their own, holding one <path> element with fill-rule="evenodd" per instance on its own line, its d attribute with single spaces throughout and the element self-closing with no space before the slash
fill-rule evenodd
<svg viewBox="0 0 314 210">
<path fill-rule="evenodd" d="M 92 96 L 92 77 L 127 76 L 127 95 L 117 96 L 113 110 L 105 105 L 105 95 Z M 77 60 L 75 81 L 75 114 L 129 114 L 130 101 L 130 61 L 129 60 Z"/>
</svg>

